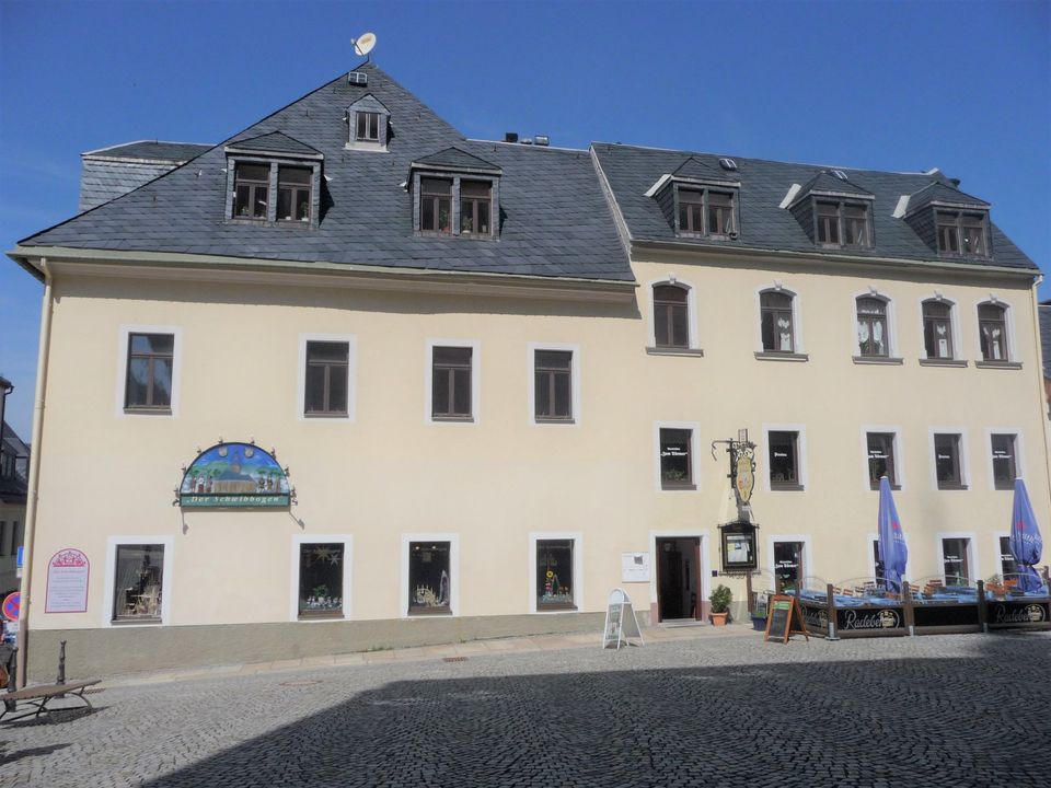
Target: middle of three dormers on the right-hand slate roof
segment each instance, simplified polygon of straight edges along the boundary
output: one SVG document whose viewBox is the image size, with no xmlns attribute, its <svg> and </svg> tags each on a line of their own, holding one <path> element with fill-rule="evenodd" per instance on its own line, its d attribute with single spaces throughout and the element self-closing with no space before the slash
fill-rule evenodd
<svg viewBox="0 0 1051 788">
<path fill-rule="evenodd" d="M 785 198 L 811 242 L 824 248 L 871 248 L 875 196 L 842 170 L 821 170 Z"/>
</svg>

